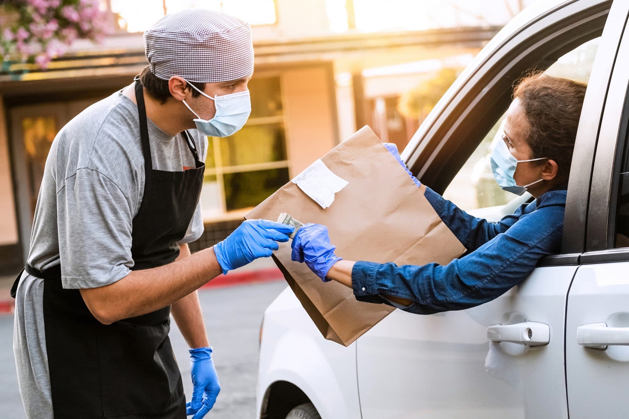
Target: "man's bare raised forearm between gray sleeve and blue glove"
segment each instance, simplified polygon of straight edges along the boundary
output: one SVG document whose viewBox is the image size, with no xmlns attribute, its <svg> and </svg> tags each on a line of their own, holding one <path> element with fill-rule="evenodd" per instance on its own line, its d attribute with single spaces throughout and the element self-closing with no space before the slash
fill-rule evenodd
<svg viewBox="0 0 629 419">
<path fill-rule="evenodd" d="M 109 324 L 175 303 L 221 272 L 210 248 L 172 264 L 131 271 L 108 286 L 81 289 L 81 295 L 92 315 Z"/>
</svg>

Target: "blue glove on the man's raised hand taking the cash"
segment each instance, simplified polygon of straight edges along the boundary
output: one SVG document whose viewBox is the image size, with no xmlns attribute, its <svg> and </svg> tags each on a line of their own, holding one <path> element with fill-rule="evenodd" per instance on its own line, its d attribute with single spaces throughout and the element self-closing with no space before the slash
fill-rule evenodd
<svg viewBox="0 0 629 419">
<path fill-rule="evenodd" d="M 244 221 L 229 237 L 214 245 L 223 274 L 259 257 L 269 257 L 278 249 L 277 242 L 287 242 L 293 230 L 292 226 L 269 220 Z"/>
</svg>

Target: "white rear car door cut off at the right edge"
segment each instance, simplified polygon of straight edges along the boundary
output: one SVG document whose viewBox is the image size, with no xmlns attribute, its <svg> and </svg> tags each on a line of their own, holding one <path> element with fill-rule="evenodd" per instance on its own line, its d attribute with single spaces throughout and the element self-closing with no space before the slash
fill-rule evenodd
<svg viewBox="0 0 629 419">
<path fill-rule="evenodd" d="M 627 20 L 629 2 L 614 7 Z M 629 415 L 628 56 L 625 26 L 596 147 L 587 252 L 580 257 L 582 265 L 568 295 L 565 362 L 571 419 Z"/>
</svg>

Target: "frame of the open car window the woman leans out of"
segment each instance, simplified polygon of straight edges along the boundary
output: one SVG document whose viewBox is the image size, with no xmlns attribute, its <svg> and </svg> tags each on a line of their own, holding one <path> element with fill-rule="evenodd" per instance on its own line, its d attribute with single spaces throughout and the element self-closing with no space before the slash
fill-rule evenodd
<svg viewBox="0 0 629 419">
<path fill-rule="evenodd" d="M 481 52 L 450 87 L 403 152 L 411 171 L 435 191 L 443 193 L 495 122 L 488 116 L 501 115 L 508 108 L 511 85 L 523 71 L 532 67 L 547 69 L 578 45 L 602 36 L 572 163 L 583 170 L 574 172 L 569 182 L 565 219 L 571 220 L 571 228 L 564 232 L 562 254 L 548 258 L 550 264 L 577 264 L 579 254 L 585 249 L 586 211 L 582 211 L 582 207 L 589 194 L 591 170 L 587 167 L 592 167 L 596 147 L 596 140 L 592 138 L 596 139 L 598 133 L 611 67 L 624 27 L 624 20 L 618 16 L 613 18 L 610 8 L 613 8 L 611 1 L 564 3 L 528 21 L 515 33 L 507 34 L 506 39 L 496 42 L 493 50 Z M 625 5 L 616 7 L 623 8 Z M 626 13 L 621 14 L 626 16 Z M 460 138 L 473 140 L 461 142 Z"/>
</svg>

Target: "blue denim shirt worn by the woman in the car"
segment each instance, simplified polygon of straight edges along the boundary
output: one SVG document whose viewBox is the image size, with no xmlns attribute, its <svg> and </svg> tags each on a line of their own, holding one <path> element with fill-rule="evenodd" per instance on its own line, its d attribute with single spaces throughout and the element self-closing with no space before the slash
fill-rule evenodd
<svg viewBox="0 0 629 419">
<path fill-rule="evenodd" d="M 520 284 L 542 257 L 560 252 L 566 186 L 521 204 L 497 223 L 465 213 L 426 187 L 426 198 L 467 252 L 447 265 L 356 262 L 352 269 L 356 299 L 431 314 L 464 310 L 501 296 Z M 414 303 L 401 306 L 381 294 Z"/>
</svg>

